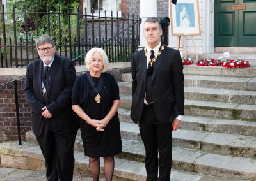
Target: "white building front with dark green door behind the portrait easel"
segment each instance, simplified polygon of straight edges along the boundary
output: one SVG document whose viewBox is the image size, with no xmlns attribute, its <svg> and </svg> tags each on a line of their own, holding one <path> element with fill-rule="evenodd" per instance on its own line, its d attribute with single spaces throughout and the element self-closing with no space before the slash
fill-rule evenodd
<svg viewBox="0 0 256 181">
<path fill-rule="evenodd" d="M 128 6 L 132 3 L 128 1 Z M 140 0 L 139 3 L 142 20 L 152 16 L 170 17 L 168 0 Z M 212 53 L 216 47 L 256 47 L 255 0 L 198 0 L 198 5 L 201 35 L 194 39 L 199 54 Z M 168 46 L 175 48 L 177 36 L 172 36 L 171 27 L 169 32 Z M 145 47 L 142 28 L 140 37 L 141 47 Z M 188 51 L 193 51 L 189 36 L 187 40 Z"/>
</svg>

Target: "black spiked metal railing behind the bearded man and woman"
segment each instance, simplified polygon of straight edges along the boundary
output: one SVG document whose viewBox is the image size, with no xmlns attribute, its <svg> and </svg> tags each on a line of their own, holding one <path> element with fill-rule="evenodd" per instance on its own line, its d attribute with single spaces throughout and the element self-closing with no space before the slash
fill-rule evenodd
<svg viewBox="0 0 256 181">
<path fill-rule="evenodd" d="M 61 13 L 60 6 L 58 12 L 48 8 L 47 12 L 18 12 L 14 6 L 12 12 L 5 12 L 2 5 L 0 66 L 23 67 L 36 59 L 34 40 L 42 34 L 52 36 L 58 54 L 75 59 L 75 64 L 83 64 L 83 56 L 92 47 L 103 48 L 109 62 L 130 61 L 140 44 L 140 18 L 138 15 L 124 18 L 118 12 L 113 15 L 112 11 L 110 15 L 106 11 L 100 13 L 80 14 L 79 8 L 76 12 Z"/>
</svg>

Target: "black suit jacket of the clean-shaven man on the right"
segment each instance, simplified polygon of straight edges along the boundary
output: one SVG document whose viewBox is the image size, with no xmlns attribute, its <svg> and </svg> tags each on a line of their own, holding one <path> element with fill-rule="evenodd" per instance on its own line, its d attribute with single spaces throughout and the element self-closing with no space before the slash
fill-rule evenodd
<svg viewBox="0 0 256 181">
<path fill-rule="evenodd" d="M 144 50 L 132 56 L 131 119 L 140 122 L 147 83 L 147 57 Z M 160 122 L 172 122 L 184 115 L 184 75 L 180 52 L 165 47 L 157 56 L 152 75 L 154 112 Z"/>
</svg>

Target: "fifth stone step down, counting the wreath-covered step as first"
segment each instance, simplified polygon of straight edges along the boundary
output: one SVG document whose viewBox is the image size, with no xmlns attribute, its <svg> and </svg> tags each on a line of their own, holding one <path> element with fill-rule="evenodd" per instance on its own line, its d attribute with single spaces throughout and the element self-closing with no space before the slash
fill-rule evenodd
<svg viewBox="0 0 256 181">
<path fill-rule="evenodd" d="M 130 110 L 120 108 L 118 110 L 118 116 L 121 122 L 134 124 L 130 118 Z M 246 120 L 184 115 L 182 116 L 181 128 L 196 131 L 256 136 L 256 122 Z"/>
</svg>

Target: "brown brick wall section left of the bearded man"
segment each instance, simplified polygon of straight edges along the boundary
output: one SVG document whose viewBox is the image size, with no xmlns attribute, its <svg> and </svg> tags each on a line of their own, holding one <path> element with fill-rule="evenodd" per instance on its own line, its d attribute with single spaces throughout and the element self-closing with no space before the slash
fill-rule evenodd
<svg viewBox="0 0 256 181">
<path fill-rule="evenodd" d="M 0 76 L 0 82 L 15 80 L 20 76 Z M 6 81 L 7 80 L 7 81 Z M 18 141 L 15 92 L 13 82 L 0 85 L 0 143 Z M 31 131 L 31 109 L 24 96 L 24 80 L 17 81 L 19 98 L 20 131 L 22 140 L 26 131 Z"/>
</svg>

